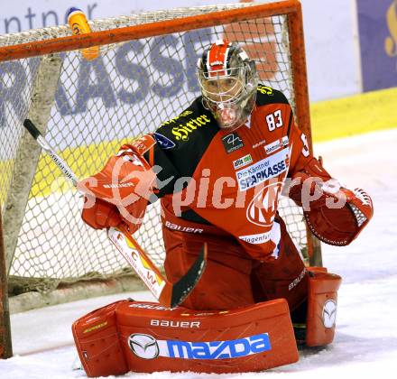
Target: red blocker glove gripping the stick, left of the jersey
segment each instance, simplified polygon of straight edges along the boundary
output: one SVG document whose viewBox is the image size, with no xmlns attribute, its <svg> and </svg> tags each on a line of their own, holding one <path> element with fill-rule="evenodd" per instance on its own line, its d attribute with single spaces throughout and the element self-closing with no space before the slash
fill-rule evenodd
<svg viewBox="0 0 397 379">
<path fill-rule="evenodd" d="M 78 182 L 85 197 L 81 217 L 95 229 L 125 223 L 130 233 L 142 224 L 156 175 L 134 146 L 123 145 L 102 171 Z"/>
</svg>

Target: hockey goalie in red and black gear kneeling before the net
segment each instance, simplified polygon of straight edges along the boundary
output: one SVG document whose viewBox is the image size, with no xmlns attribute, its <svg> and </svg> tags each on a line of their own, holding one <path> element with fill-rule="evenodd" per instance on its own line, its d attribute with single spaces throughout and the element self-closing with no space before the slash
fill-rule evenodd
<svg viewBox="0 0 397 379">
<path fill-rule="evenodd" d="M 288 193 L 311 232 L 339 246 L 369 222 L 372 200 L 341 186 L 311 155 L 286 97 L 258 83 L 238 44 L 209 46 L 197 76 L 201 96 L 180 116 L 78 183 L 82 217 L 97 229 L 124 224 L 134 233 L 160 199 L 171 282 L 208 244 L 207 268 L 180 307 L 123 300 L 76 321 L 89 376 L 259 371 L 296 362 L 297 336 L 309 347 L 333 340 L 341 278 L 305 267 L 278 199 Z"/>
</svg>

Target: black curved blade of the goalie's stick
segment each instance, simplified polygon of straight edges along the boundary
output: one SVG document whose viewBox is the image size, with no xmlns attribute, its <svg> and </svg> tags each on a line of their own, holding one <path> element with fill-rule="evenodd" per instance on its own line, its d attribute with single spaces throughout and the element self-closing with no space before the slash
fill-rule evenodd
<svg viewBox="0 0 397 379">
<path fill-rule="evenodd" d="M 198 258 L 189 268 L 188 273 L 172 285 L 171 308 L 175 308 L 180 305 L 189 293 L 193 291 L 206 268 L 207 254 L 207 244 L 204 244 L 200 250 Z"/>
</svg>

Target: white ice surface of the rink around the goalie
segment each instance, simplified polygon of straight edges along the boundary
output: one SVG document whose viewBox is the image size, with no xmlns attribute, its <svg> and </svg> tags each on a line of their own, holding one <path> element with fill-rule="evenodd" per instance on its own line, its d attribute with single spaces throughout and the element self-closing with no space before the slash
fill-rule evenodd
<svg viewBox="0 0 397 379">
<path fill-rule="evenodd" d="M 328 171 L 347 187 L 362 187 L 374 199 L 374 218 L 349 246 L 323 245 L 324 265 L 342 275 L 337 334 L 319 352 L 263 373 L 126 374 L 131 378 L 190 379 L 260 377 L 335 379 L 394 378 L 397 372 L 397 129 L 315 145 Z M 80 300 L 12 316 L 14 357 L 0 361 L 0 378 L 76 378 L 77 357 L 70 325 L 83 314 L 119 299 L 152 299 L 135 292 Z"/>
</svg>

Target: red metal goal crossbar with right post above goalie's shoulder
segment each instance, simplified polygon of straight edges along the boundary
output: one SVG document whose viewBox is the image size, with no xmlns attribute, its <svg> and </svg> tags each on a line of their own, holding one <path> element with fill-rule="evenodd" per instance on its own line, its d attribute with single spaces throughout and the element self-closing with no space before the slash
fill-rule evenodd
<svg viewBox="0 0 397 379">
<path fill-rule="evenodd" d="M 246 21 L 271 17 L 278 14 L 289 14 L 289 28 L 291 36 L 291 50 L 295 50 L 296 59 L 293 61 L 292 74 L 297 106 L 296 117 L 299 125 L 310 125 L 309 120 L 309 96 L 307 93 L 307 73 L 303 30 L 301 28 L 301 5 L 299 0 L 285 0 L 281 2 L 251 5 L 244 8 L 236 8 L 226 11 L 213 12 L 211 14 L 198 14 L 173 20 L 144 23 L 133 26 L 125 26 L 117 29 L 91 32 L 87 34 L 72 35 L 69 37 L 54 38 L 45 41 L 22 43 L 17 46 L 0 47 L 0 61 L 32 58 L 55 52 L 73 51 L 92 46 L 102 46 L 109 43 L 126 42 L 135 39 L 169 34 L 172 32 L 187 32 L 208 26 L 235 21 Z M 299 75 L 295 75 L 296 73 Z M 307 134 L 309 148 L 311 150 L 310 127 L 301 126 Z"/>
</svg>

